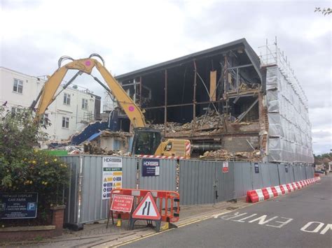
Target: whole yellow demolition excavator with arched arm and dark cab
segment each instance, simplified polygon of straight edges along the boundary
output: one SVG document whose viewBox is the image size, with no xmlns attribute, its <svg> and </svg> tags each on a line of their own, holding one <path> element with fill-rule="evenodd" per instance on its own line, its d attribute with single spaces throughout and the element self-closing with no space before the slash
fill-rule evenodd
<svg viewBox="0 0 332 248">
<path fill-rule="evenodd" d="M 102 63 L 97 59 L 99 58 Z M 71 60 L 68 64 L 62 66 L 64 60 Z M 104 78 L 106 85 L 93 76 L 92 69 L 97 68 L 97 71 Z M 130 96 L 127 95 L 123 87 L 116 81 L 115 78 L 105 68 L 104 59 L 99 54 L 91 54 L 86 59 L 72 59 L 71 57 L 61 57 L 58 61 L 57 70 L 48 77 L 48 80 L 43 85 L 41 92 L 37 96 L 37 99 L 32 103 L 31 107 L 36 108 L 36 121 L 39 121 L 43 116 L 48 106 L 53 103 L 56 97 L 61 93 L 57 93 L 57 89 L 60 87 L 64 76 L 69 70 L 78 70 L 77 73 L 71 78 L 64 86 L 67 88 L 71 82 L 73 82 L 78 75 L 87 73 L 94 78 L 99 85 L 102 85 L 107 92 L 113 95 L 113 97 L 120 105 L 120 108 L 125 112 L 127 117 L 133 126 L 134 139 L 132 143 L 132 154 L 134 155 L 154 155 L 154 156 L 177 156 L 189 159 L 191 156 L 191 143 L 189 140 L 182 139 L 162 139 L 162 135 L 158 129 L 151 129 L 146 126 L 145 117 L 141 109 L 132 101 Z M 62 89 L 62 90 L 63 90 Z M 57 94 L 56 94 L 57 93 Z M 55 95 L 56 94 L 56 95 Z"/>
</svg>

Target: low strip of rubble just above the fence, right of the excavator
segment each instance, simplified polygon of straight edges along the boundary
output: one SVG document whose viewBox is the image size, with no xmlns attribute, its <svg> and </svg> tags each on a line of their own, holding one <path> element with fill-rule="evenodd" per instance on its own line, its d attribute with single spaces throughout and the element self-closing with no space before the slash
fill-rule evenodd
<svg viewBox="0 0 332 248">
<path fill-rule="evenodd" d="M 252 152 L 228 152 L 225 149 L 217 149 L 215 151 L 207 151 L 200 159 L 214 159 L 221 161 L 261 161 L 261 152 L 254 150 Z"/>
</svg>

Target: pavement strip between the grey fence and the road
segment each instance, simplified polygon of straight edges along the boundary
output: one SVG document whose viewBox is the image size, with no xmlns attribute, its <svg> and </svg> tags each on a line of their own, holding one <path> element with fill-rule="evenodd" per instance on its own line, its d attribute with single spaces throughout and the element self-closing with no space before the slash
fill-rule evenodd
<svg viewBox="0 0 332 248">
<path fill-rule="evenodd" d="M 187 226 L 211 218 L 214 214 L 237 210 L 248 205 L 251 203 L 246 203 L 245 198 L 237 199 L 237 202 L 221 202 L 215 205 L 181 205 L 180 221 L 174 224 L 176 227 Z M 0 242 L 0 247 L 116 247 L 155 233 L 155 229 L 146 227 L 146 221 L 137 221 L 134 230 L 128 230 L 128 221 L 123 221 L 120 228 L 112 224 L 106 228 L 106 220 L 103 220 L 95 224 L 85 224 L 82 231 L 64 229 L 61 237 L 39 241 Z"/>
</svg>

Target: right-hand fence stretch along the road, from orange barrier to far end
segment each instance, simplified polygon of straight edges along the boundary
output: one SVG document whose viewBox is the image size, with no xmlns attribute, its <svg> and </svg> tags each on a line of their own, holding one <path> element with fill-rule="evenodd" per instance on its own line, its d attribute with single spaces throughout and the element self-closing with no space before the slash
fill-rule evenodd
<svg viewBox="0 0 332 248">
<path fill-rule="evenodd" d="M 240 198 L 248 190 L 261 189 L 314 176 L 310 166 L 277 163 L 228 162 L 228 173 L 220 161 L 180 161 L 180 203 L 216 203 Z"/>
</svg>

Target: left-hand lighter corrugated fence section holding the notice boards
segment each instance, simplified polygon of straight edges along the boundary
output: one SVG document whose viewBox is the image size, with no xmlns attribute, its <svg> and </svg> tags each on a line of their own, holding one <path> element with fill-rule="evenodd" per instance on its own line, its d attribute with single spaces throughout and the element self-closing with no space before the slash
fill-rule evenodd
<svg viewBox="0 0 332 248">
<path fill-rule="evenodd" d="M 69 164 L 71 180 L 65 191 L 65 222 L 83 224 L 107 218 L 109 200 L 102 199 L 102 170 L 105 156 L 62 156 Z M 176 191 L 177 160 L 160 159 L 160 175 L 143 177 L 142 159 L 123 157 L 122 187 Z"/>
</svg>

